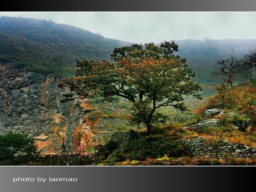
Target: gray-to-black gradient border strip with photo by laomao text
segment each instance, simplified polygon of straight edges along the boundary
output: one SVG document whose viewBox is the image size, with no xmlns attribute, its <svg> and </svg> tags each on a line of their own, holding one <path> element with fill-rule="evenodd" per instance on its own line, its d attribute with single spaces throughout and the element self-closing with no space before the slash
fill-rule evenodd
<svg viewBox="0 0 256 192">
<path fill-rule="evenodd" d="M 0 192 L 200 192 L 205 191 L 208 185 L 211 185 L 211 189 L 216 188 L 216 191 L 222 191 L 218 185 L 227 183 L 228 178 L 226 174 L 220 174 L 220 171 L 226 170 L 233 178 L 231 168 L 195 166 L 0 167 Z M 245 170 L 247 167 L 240 168 Z M 249 171 L 251 172 L 252 169 Z M 37 177 L 41 177 L 47 180 L 44 183 L 37 181 L 13 183 L 13 177 L 30 177 L 36 180 Z M 49 182 L 49 177 L 70 177 L 77 178 L 77 181 Z"/>
</svg>

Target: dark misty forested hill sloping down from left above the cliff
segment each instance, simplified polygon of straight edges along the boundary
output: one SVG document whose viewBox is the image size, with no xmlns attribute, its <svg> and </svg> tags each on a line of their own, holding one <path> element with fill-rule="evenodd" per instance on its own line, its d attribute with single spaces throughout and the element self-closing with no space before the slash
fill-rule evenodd
<svg viewBox="0 0 256 192">
<path fill-rule="evenodd" d="M 0 17 L 0 62 L 17 68 L 67 76 L 75 70 L 76 58 L 110 61 L 115 47 L 131 44 L 49 19 Z"/>
</svg>

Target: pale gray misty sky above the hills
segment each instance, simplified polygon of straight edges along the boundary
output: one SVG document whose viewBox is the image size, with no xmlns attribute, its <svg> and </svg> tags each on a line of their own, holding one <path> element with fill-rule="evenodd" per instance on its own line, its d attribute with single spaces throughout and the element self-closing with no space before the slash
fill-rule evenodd
<svg viewBox="0 0 256 192">
<path fill-rule="evenodd" d="M 172 39 L 256 38 L 256 12 L 0 12 L 50 18 L 133 43 Z"/>
</svg>

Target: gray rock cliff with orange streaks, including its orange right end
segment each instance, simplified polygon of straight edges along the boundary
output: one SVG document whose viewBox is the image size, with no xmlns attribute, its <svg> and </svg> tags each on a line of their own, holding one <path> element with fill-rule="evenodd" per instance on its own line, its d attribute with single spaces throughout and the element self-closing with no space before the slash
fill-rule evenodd
<svg viewBox="0 0 256 192">
<path fill-rule="evenodd" d="M 65 90 L 58 88 L 59 76 L 44 75 L 0 66 L 0 134 L 8 131 L 28 133 L 44 153 L 56 153 L 60 137 L 77 147 L 89 147 L 110 138 L 129 140 L 133 132 L 98 126 L 99 118 L 87 100 L 60 103 Z"/>
</svg>

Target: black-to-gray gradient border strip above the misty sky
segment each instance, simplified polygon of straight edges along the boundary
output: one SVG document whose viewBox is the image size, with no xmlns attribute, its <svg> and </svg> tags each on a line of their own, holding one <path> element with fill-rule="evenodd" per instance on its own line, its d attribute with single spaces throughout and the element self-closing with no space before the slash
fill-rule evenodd
<svg viewBox="0 0 256 192">
<path fill-rule="evenodd" d="M 41 1 L 36 8 L 21 9 L 24 2 L 15 2 L 4 7 L 5 11 L 255 11 L 255 0 L 73 0 L 67 3 L 61 1 Z M 0 11 L 1 7 L 0 7 Z"/>
</svg>

